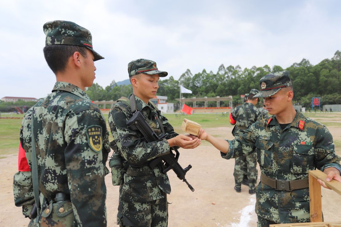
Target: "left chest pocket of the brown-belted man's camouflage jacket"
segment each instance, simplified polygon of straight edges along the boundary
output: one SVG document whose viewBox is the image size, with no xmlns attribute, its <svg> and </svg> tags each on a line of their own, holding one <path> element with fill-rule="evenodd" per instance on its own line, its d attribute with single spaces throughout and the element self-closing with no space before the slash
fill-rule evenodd
<svg viewBox="0 0 341 227">
<path fill-rule="evenodd" d="M 260 166 L 271 167 L 273 161 L 272 146 L 273 142 L 270 140 L 258 139 L 255 143 L 257 148 L 257 162 Z"/>
</svg>

